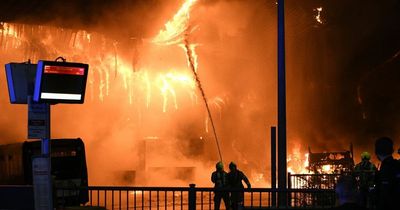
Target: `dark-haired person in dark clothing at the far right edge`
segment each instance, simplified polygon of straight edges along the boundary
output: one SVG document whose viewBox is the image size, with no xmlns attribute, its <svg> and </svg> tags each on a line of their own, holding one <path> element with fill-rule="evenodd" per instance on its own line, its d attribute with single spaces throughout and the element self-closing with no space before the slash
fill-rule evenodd
<svg viewBox="0 0 400 210">
<path fill-rule="evenodd" d="M 375 154 L 381 161 L 376 176 L 378 210 L 400 209 L 400 163 L 393 159 L 393 141 L 382 137 L 375 142 Z"/>
</svg>

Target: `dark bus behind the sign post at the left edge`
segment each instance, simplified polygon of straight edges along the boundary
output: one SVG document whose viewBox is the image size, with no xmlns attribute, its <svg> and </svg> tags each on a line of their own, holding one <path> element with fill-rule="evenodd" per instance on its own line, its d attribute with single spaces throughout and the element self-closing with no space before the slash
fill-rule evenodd
<svg viewBox="0 0 400 210">
<path fill-rule="evenodd" d="M 52 139 L 51 175 L 53 189 L 88 186 L 85 145 L 82 139 Z M 32 185 L 32 158 L 41 154 L 41 141 L 0 145 L 0 185 Z M 88 191 L 53 192 L 54 203 L 65 206 L 85 204 Z"/>
</svg>

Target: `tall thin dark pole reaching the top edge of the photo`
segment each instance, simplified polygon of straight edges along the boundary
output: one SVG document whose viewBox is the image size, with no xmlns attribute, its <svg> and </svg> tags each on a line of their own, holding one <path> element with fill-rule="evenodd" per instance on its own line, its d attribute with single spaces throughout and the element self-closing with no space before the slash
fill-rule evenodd
<svg viewBox="0 0 400 210">
<path fill-rule="evenodd" d="M 285 75 L 285 9 L 284 0 L 278 0 L 278 188 L 286 189 L 286 75 Z M 279 206 L 286 206 L 281 193 Z"/>
</svg>

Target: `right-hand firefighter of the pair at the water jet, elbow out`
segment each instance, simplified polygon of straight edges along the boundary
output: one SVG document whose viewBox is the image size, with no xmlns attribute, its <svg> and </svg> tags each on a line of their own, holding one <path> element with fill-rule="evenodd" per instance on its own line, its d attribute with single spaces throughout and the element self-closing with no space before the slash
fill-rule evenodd
<svg viewBox="0 0 400 210">
<path fill-rule="evenodd" d="M 228 173 L 229 187 L 233 189 L 244 189 L 243 182 L 247 185 L 247 188 L 251 188 L 249 179 L 243 172 L 237 169 L 234 162 L 229 163 L 229 173 Z M 238 210 L 243 207 L 244 192 L 232 191 L 231 192 L 231 204 L 232 210 Z"/>
</svg>

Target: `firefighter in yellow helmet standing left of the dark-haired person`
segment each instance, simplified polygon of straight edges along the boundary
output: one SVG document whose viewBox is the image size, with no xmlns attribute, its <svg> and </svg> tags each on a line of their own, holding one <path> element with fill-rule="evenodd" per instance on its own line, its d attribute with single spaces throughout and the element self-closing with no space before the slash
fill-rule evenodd
<svg viewBox="0 0 400 210">
<path fill-rule="evenodd" d="M 370 162 L 369 152 L 361 153 L 361 162 L 354 167 L 354 177 L 358 180 L 358 189 L 360 190 L 360 204 L 370 207 L 370 191 L 375 185 L 376 166 Z"/>
</svg>

